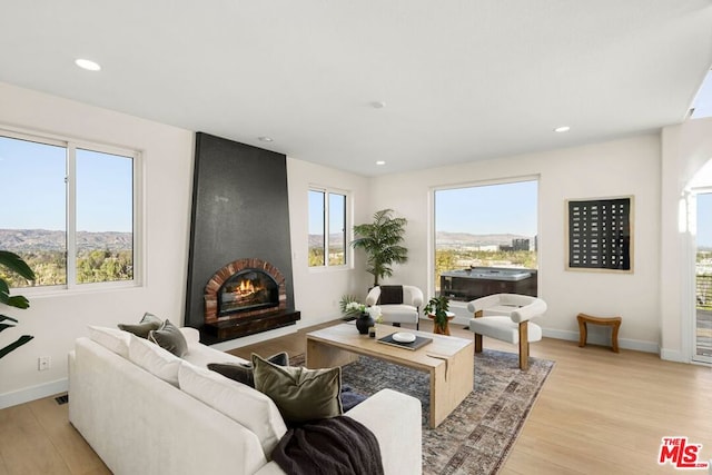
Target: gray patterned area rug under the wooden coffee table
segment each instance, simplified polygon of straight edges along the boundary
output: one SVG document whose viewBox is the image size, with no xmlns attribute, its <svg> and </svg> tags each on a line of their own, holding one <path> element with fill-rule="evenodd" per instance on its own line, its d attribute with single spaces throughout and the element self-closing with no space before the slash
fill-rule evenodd
<svg viewBox="0 0 712 475">
<path fill-rule="evenodd" d="M 304 355 L 293 357 L 291 364 L 304 364 Z M 424 474 L 496 474 L 553 367 L 554 362 L 531 358 L 530 369 L 522 372 L 516 354 L 488 349 L 476 354 L 473 393 L 434 429 L 427 425 L 426 373 L 362 356 L 343 368 L 342 379 L 365 395 L 392 388 L 421 400 Z"/>
</svg>

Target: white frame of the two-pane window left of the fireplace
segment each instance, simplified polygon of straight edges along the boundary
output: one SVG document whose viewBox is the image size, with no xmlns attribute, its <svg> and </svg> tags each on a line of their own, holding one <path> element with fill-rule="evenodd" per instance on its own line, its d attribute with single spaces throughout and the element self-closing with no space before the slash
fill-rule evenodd
<svg viewBox="0 0 712 475">
<path fill-rule="evenodd" d="M 66 156 L 66 188 L 65 188 L 65 210 L 66 210 L 66 232 L 67 232 L 67 283 L 62 285 L 28 286 L 18 287 L 14 290 L 23 295 L 41 297 L 67 293 L 86 293 L 108 289 L 126 289 L 142 287 L 145 281 L 145 243 L 144 243 L 144 160 L 142 151 L 138 148 L 119 147 L 100 144 L 96 141 L 65 137 L 56 133 L 36 132 L 0 126 L 0 137 L 10 139 L 31 141 L 41 145 L 62 147 L 67 150 Z M 134 235 L 134 278 L 130 280 L 112 280 L 105 283 L 78 283 L 77 281 L 77 184 L 76 165 L 77 149 L 96 151 L 100 154 L 115 155 L 131 159 L 131 225 Z M 70 258 L 71 256 L 71 258 Z"/>
</svg>

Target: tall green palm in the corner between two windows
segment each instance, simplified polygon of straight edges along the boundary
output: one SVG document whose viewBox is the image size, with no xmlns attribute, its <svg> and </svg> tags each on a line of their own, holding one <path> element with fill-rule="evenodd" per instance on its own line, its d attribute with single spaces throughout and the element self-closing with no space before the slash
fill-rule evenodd
<svg viewBox="0 0 712 475">
<path fill-rule="evenodd" d="M 392 215 L 393 209 L 382 209 L 374 214 L 373 222 L 354 226 L 357 238 L 352 247 L 366 253 L 366 271 L 373 274 L 374 287 L 378 279 L 393 275 L 392 265 L 408 260 L 408 249 L 400 244 L 408 221 Z"/>
</svg>

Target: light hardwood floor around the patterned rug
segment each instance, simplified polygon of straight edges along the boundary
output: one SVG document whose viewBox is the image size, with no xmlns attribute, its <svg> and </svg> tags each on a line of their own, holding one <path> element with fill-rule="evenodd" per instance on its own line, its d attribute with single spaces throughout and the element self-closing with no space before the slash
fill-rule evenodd
<svg viewBox="0 0 712 475">
<path fill-rule="evenodd" d="M 296 355 L 305 352 L 305 333 L 324 326 L 230 353 Z M 423 320 L 421 329 L 432 324 Z M 461 326 L 452 331 L 472 338 Z M 484 346 L 515 352 L 487 338 Z M 546 338 L 532 345 L 532 356 L 556 365 L 503 475 L 679 473 L 657 465 L 664 436 L 686 436 L 712 458 L 712 368 Z M 67 405 L 53 398 L 0 410 L 0 475 L 109 473 L 67 417 Z"/>
</svg>

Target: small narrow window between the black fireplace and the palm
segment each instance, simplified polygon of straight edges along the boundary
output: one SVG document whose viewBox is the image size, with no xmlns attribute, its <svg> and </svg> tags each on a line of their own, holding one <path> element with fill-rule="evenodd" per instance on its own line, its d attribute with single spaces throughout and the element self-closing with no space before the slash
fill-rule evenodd
<svg viewBox="0 0 712 475">
<path fill-rule="evenodd" d="M 309 190 L 309 267 L 346 265 L 346 194 Z"/>
</svg>

